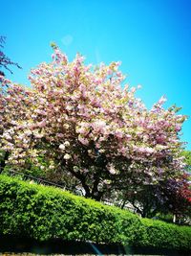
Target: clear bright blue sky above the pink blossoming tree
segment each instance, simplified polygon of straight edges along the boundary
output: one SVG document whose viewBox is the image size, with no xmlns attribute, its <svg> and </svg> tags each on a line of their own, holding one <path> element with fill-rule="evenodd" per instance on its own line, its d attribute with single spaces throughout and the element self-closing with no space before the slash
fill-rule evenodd
<svg viewBox="0 0 191 256">
<path fill-rule="evenodd" d="M 87 63 L 121 60 L 131 86 L 150 108 L 160 96 L 191 116 L 190 0 L 0 0 L 4 52 L 23 69 L 7 76 L 24 84 L 30 69 L 50 61 L 50 42 Z M 191 150 L 191 118 L 182 141 Z"/>
</svg>

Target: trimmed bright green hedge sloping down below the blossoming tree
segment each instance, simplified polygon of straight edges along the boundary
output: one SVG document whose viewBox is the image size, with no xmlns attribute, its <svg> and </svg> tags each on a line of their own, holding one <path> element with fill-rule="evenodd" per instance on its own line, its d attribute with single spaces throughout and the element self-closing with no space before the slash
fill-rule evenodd
<svg viewBox="0 0 191 256">
<path fill-rule="evenodd" d="M 61 189 L 0 175 L 0 234 L 191 249 L 191 227 L 140 219 Z"/>
</svg>

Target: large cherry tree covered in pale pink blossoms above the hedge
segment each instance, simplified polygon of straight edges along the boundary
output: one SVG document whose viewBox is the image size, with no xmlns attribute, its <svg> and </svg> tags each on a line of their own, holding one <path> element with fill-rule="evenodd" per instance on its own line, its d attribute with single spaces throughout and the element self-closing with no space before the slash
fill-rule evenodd
<svg viewBox="0 0 191 256">
<path fill-rule="evenodd" d="M 121 86 L 119 62 L 98 67 L 72 62 L 54 46 L 53 61 L 33 69 L 32 89 L 11 81 L 0 95 L 1 148 L 19 170 L 30 163 L 75 180 L 100 200 L 132 183 L 155 184 L 183 170 L 180 129 L 185 117 L 165 98 L 148 110 L 137 88 Z M 46 170 L 45 170 L 46 171 Z"/>
</svg>

